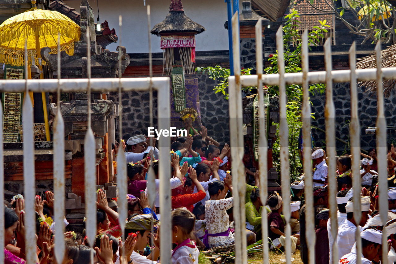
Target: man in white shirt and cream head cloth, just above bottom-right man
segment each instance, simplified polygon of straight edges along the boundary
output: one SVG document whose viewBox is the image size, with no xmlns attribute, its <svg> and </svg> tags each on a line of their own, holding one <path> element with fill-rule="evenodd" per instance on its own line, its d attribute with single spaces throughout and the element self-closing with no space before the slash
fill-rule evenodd
<svg viewBox="0 0 396 264">
<path fill-rule="evenodd" d="M 351 252 L 353 244 L 356 242 L 356 228 L 362 229 L 368 220 L 368 211 L 370 210 L 370 197 L 364 196 L 360 197 L 360 207 L 362 216 L 360 222 L 356 223 L 353 218 L 353 197 L 349 198 L 346 203 L 346 219 L 338 228 L 337 246 L 338 246 L 338 256 L 341 258 L 345 254 Z M 341 262 L 340 262 L 341 263 Z"/>
</svg>

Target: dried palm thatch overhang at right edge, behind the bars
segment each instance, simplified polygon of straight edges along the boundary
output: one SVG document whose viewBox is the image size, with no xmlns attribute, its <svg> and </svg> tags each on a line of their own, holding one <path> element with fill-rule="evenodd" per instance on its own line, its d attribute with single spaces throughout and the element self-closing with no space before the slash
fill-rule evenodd
<svg viewBox="0 0 396 264">
<path fill-rule="evenodd" d="M 396 67 L 396 44 L 389 46 L 385 50 L 381 51 L 381 67 Z M 356 63 L 356 69 L 375 69 L 375 53 L 367 57 L 358 59 Z M 359 82 L 359 84 L 366 87 L 366 92 L 377 92 L 377 81 L 370 80 Z M 383 80 L 384 96 L 388 97 L 390 93 L 396 88 L 395 80 Z"/>
</svg>

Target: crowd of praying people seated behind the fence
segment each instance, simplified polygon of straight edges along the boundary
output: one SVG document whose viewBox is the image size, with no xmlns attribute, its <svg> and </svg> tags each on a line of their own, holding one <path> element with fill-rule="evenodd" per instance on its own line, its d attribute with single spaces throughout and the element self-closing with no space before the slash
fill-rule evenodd
<svg viewBox="0 0 396 264">
<path fill-rule="evenodd" d="M 97 190 L 97 236 L 94 245 L 82 233 L 68 231 L 65 233 L 65 257 L 63 264 L 88 264 L 93 257 L 94 263 L 104 264 L 155 264 L 161 262 L 159 230 L 160 212 L 158 178 L 159 163 L 169 162 L 169 182 L 171 186 L 172 219 L 172 263 L 197 264 L 200 251 L 234 243 L 233 228 L 233 187 L 231 176 L 232 159 L 230 147 L 208 136 L 207 129 L 196 130 L 194 135 L 172 138 L 169 157 L 160 157 L 156 141 L 144 135 L 128 138 L 126 142 L 114 146 L 112 153 L 114 170 L 115 156 L 124 155 L 127 161 L 128 195 L 117 199 L 127 199 L 128 218 L 119 219 L 117 208 L 109 206 L 105 191 Z M 247 165 L 249 158 L 244 163 Z M 369 155 L 361 153 L 360 175 L 362 187 L 360 201 L 354 201 L 352 189 L 351 160 L 352 155 L 336 157 L 337 171 L 329 173 L 327 164 L 335 161 L 326 157 L 321 148 L 312 149 L 312 175 L 302 175 L 293 182 L 291 204 L 284 205 L 281 195 L 274 192 L 267 201 L 260 198 L 259 171 L 246 166 L 246 237 L 247 243 L 253 244 L 261 239 L 261 217 L 268 218 L 268 246 L 282 250 L 286 244 L 285 224 L 282 214 L 285 206 L 290 206 L 291 251 L 301 250 L 301 259 L 308 263 L 307 237 L 305 234 L 305 184 L 306 177 L 314 182 L 314 212 L 316 224 L 316 263 L 332 263 L 332 245 L 337 243 L 339 263 L 355 263 L 362 257 L 362 263 L 379 263 L 382 256 L 381 236 L 384 226 L 389 239 L 388 260 L 396 261 L 396 187 L 388 191 L 388 222 L 383 223 L 378 212 L 377 191 L 377 157 L 375 150 Z M 251 157 L 251 156 L 250 156 Z M 396 151 L 392 145 L 388 154 L 388 174 L 395 174 Z M 360 159 L 360 157 L 359 157 Z M 154 206 L 148 202 L 147 171 L 152 168 L 155 174 L 156 197 Z M 331 236 L 330 214 L 328 208 L 328 177 L 337 178 L 337 239 Z M 392 179 L 392 177 L 390 177 Z M 311 190 L 312 191 L 312 190 Z M 355 222 L 353 204 L 360 203 L 362 214 L 360 222 Z M 24 199 L 15 195 L 12 201 L 5 202 L 4 211 L 4 254 L 6 264 L 25 263 L 24 233 Z M 37 259 L 40 264 L 55 264 L 55 242 L 53 237 L 54 194 L 46 191 L 35 198 Z M 263 214 L 263 212 L 265 212 Z M 121 230 L 120 221 L 124 221 L 125 230 Z M 69 223 L 64 219 L 63 224 Z M 359 229 L 362 238 L 362 256 L 356 253 L 355 232 Z M 122 232 L 123 231 L 123 232 Z M 122 233 L 124 237 L 122 239 Z"/>
</svg>

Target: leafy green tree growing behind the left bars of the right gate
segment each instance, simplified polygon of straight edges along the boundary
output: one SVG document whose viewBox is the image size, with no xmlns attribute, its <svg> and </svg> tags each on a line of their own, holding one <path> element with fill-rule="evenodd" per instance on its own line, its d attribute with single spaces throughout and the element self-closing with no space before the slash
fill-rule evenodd
<svg viewBox="0 0 396 264">
<path fill-rule="evenodd" d="M 292 11 L 291 14 L 287 15 L 288 19 L 285 23 L 284 29 L 284 58 L 285 58 L 285 71 L 286 73 L 298 73 L 301 72 L 301 46 L 302 40 L 297 30 L 296 19 L 299 17 L 297 11 Z M 323 33 L 327 32 L 329 25 L 326 24 L 326 20 L 319 21 L 318 26 L 315 26 L 308 34 L 308 44 L 310 46 L 316 46 L 319 38 L 323 38 Z M 272 54 L 268 59 L 270 65 L 264 69 L 266 74 L 278 73 L 278 54 Z M 230 70 L 225 69 L 219 65 L 215 67 L 197 67 L 197 73 L 206 73 L 209 78 L 217 82 L 217 86 L 213 89 L 215 93 L 221 93 L 225 99 L 228 100 L 228 76 L 230 76 Z M 250 75 L 251 69 L 241 69 L 241 75 Z M 250 93 L 255 87 L 243 87 L 242 90 Z M 324 84 L 311 84 L 309 90 L 311 93 L 324 92 L 326 86 Z M 279 96 L 278 86 L 269 86 L 268 93 L 273 96 Z M 298 149 L 298 138 L 300 128 L 302 126 L 301 121 L 301 102 L 303 101 L 303 91 L 301 85 L 288 85 L 286 87 L 287 105 L 286 115 L 287 123 L 289 125 L 289 161 L 290 161 L 290 175 L 291 178 L 295 179 L 301 174 L 302 165 L 299 157 Z M 279 124 L 277 126 L 277 140 L 273 142 L 273 160 L 274 166 L 280 172 L 280 145 L 279 145 Z"/>
</svg>

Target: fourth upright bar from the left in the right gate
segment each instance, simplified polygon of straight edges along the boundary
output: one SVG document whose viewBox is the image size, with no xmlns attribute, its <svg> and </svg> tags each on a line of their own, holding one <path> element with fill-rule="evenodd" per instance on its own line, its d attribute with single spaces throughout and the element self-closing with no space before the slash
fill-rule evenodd
<svg viewBox="0 0 396 264">
<path fill-rule="evenodd" d="M 312 192 L 313 179 L 311 165 L 311 104 L 309 101 L 308 84 L 308 31 L 302 35 L 301 46 L 301 68 L 303 70 L 303 103 L 301 105 L 301 117 L 303 120 L 303 171 L 305 184 L 305 240 L 308 248 L 308 263 L 315 263 L 315 216 L 314 216 L 314 196 Z"/>
</svg>

